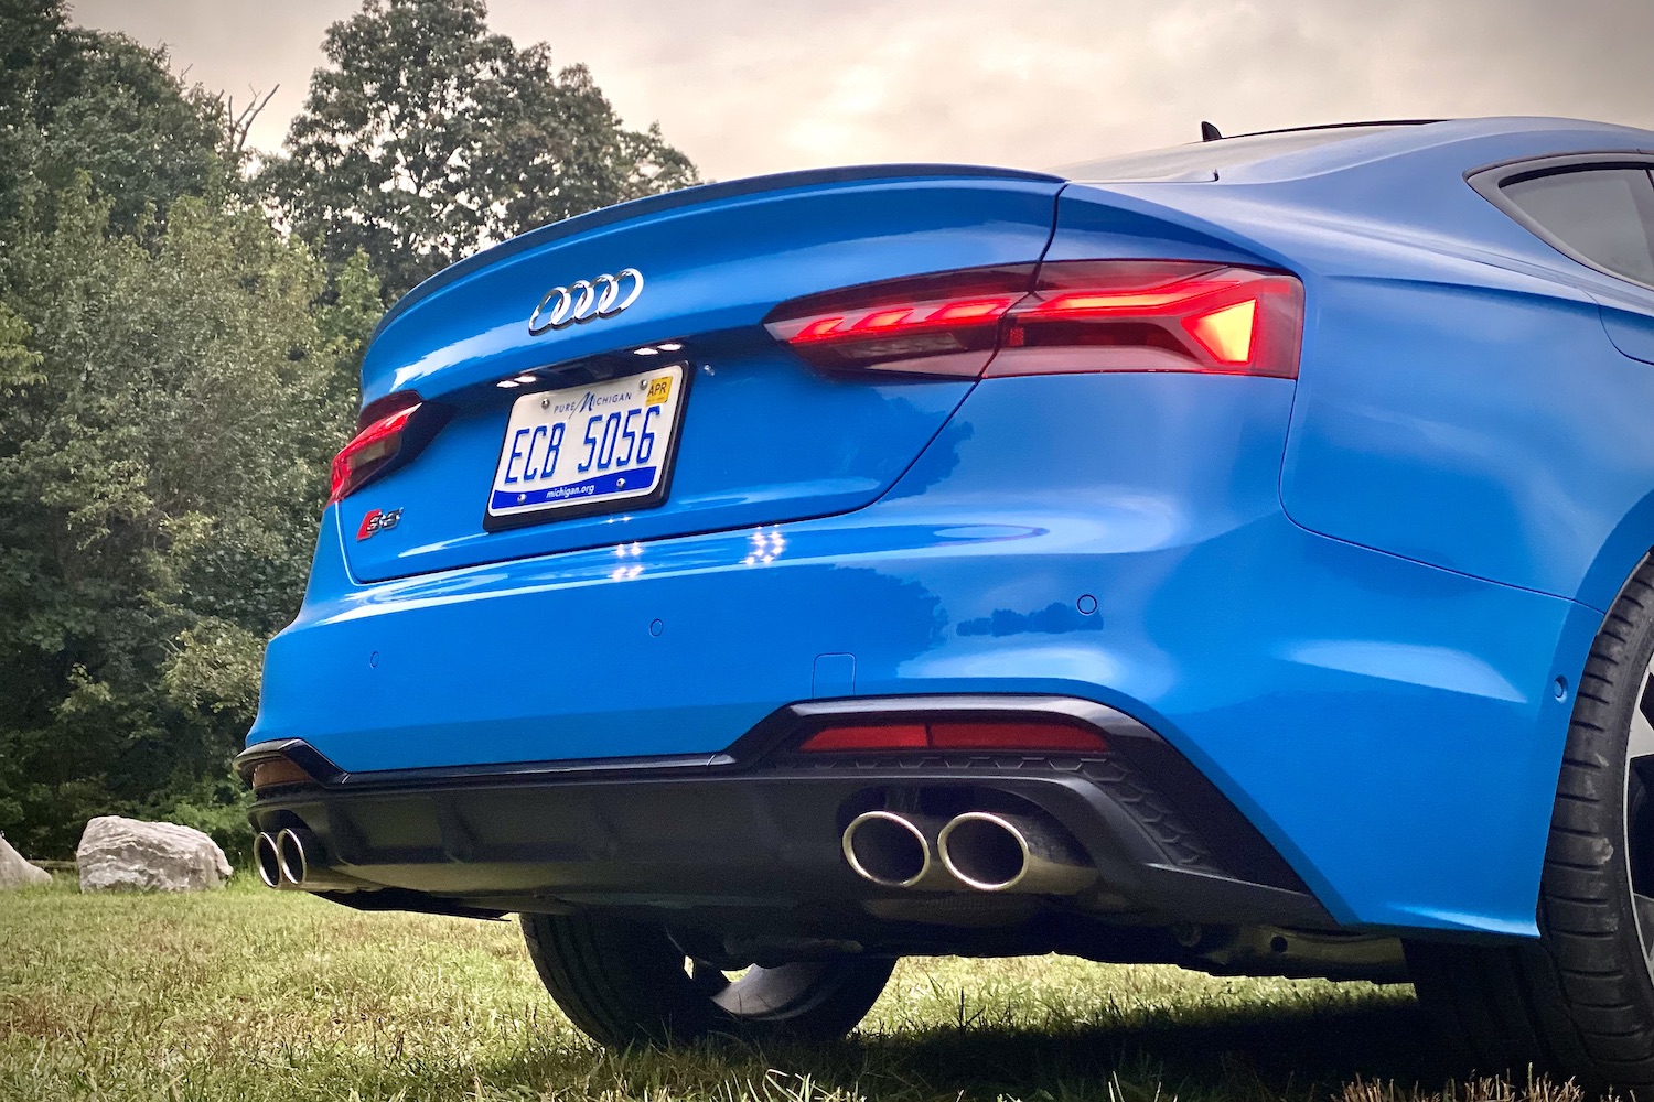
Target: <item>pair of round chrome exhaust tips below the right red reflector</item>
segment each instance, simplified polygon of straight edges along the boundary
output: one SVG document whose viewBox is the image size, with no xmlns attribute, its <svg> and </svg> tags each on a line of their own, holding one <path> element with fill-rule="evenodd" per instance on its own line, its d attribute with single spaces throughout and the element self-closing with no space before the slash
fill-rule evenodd
<svg viewBox="0 0 1654 1102">
<path fill-rule="evenodd" d="M 1055 823 L 997 811 L 951 819 L 865 811 L 844 831 L 844 857 L 882 887 L 1072 895 L 1097 881 Z"/>
</svg>

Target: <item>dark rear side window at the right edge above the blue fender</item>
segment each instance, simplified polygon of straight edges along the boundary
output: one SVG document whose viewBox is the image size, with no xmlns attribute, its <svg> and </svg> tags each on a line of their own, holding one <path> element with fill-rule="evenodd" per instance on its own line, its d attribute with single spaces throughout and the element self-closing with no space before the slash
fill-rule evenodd
<svg viewBox="0 0 1654 1102">
<path fill-rule="evenodd" d="M 1565 253 L 1654 286 L 1654 175 L 1647 167 L 1551 172 L 1512 180 L 1502 192 Z"/>
</svg>

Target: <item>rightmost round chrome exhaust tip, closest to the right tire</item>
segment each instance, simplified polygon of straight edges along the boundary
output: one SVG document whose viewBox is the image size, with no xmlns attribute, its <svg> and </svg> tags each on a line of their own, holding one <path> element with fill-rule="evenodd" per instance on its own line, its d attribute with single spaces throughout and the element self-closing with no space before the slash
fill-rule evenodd
<svg viewBox="0 0 1654 1102">
<path fill-rule="evenodd" d="M 936 848 L 948 872 L 979 892 L 1072 895 L 1097 881 L 1059 828 L 1022 815 L 966 811 L 941 828 Z"/>
</svg>

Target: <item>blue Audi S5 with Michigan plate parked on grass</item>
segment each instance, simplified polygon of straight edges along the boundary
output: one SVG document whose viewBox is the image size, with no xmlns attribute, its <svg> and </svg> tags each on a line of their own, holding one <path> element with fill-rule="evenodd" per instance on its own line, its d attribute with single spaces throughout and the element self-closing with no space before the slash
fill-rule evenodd
<svg viewBox="0 0 1654 1102">
<path fill-rule="evenodd" d="M 519 914 L 609 1044 L 1057 952 L 1654 1084 L 1654 132 L 1207 137 L 420 284 L 238 758 L 263 879 Z"/>
</svg>

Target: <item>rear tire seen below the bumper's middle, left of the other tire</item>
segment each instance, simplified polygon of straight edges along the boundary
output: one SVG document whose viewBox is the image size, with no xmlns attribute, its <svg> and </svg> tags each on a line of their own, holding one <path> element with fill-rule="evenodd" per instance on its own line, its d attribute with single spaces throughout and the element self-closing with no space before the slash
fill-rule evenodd
<svg viewBox="0 0 1654 1102">
<path fill-rule="evenodd" d="M 878 1000 L 895 960 L 839 957 L 748 968 L 736 980 L 691 960 L 658 925 L 523 915 L 551 998 L 581 1033 L 625 1047 L 726 1034 L 754 1043 L 842 1038 Z"/>
</svg>

